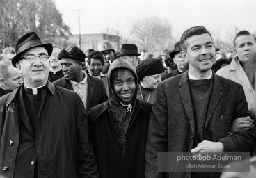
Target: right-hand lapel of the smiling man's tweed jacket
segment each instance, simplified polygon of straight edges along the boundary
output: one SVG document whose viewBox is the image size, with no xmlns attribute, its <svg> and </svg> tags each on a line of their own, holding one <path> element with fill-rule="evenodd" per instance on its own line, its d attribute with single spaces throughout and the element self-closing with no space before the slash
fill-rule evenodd
<svg viewBox="0 0 256 178">
<path fill-rule="evenodd" d="M 216 74 L 214 74 L 214 72 L 212 74 L 214 76 L 214 85 L 212 86 L 211 96 L 209 98 L 207 116 L 206 116 L 206 120 L 205 120 L 205 129 L 206 129 L 207 124 L 208 124 L 208 122 L 211 118 L 212 113 L 214 113 L 215 108 L 216 108 L 216 106 L 217 106 L 217 104 L 218 104 L 218 102 L 219 102 L 219 100 L 221 99 L 221 96 L 222 96 L 221 82 L 219 81 Z"/>
</svg>

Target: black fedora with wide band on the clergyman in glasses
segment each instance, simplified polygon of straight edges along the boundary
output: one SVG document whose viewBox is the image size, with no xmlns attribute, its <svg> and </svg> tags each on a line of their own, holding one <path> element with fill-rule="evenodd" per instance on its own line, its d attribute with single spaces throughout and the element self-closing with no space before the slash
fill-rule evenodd
<svg viewBox="0 0 256 178">
<path fill-rule="evenodd" d="M 31 47 L 44 47 L 48 55 L 51 56 L 53 46 L 51 43 L 44 44 L 35 32 L 26 33 L 22 38 L 19 38 L 15 45 L 16 56 L 12 59 L 12 64 L 16 67 L 16 63 L 19 61 L 22 52 L 31 49 Z"/>
</svg>

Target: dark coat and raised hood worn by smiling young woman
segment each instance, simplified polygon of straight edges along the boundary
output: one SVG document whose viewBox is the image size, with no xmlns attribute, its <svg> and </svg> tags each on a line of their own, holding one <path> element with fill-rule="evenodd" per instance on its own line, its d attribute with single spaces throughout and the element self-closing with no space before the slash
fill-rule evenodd
<svg viewBox="0 0 256 178">
<path fill-rule="evenodd" d="M 109 67 L 108 79 L 111 71 L 117 67 L 127 68 L 136 76 L 133 67 L 122 60 L 114 61 Z M 118 64 L 118 65 L 117 65 Z M 129 115 L 127 108 L 120 104 L 120 100 L 111 89 L 109 80 L 109 101 L 99 104 L 88 113 L 89 137 L 93 145 L 99 177 L 111 178 L 143 178 L 145 177 L 145 143 L 147 140 L 147 126 L 152 104 L 136 99 L 131 101 L 132 113 L 126 134 L 125 149 L 118 142 L 116 126 L 120 118 Z"/>
</svg>

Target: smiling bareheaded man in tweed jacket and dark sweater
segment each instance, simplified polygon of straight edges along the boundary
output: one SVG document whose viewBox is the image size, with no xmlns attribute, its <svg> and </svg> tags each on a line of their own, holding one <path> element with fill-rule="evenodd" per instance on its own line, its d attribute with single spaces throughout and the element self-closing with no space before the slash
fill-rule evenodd
<svg viewBox="0 0 256 178">
<path fill-rule="evenodd" d="M 167 177 L 157 172 L 157 152 L 250 151 L 255 127 L 229 135 L 234 119 L 250 113 L 243 87 L 212 72 L 215 47 L 203 26 L 186 30 L 182 58 L 189 71 L 159 84 L 152 108 L 145 150 L 145 177 Z M 173 165 L 175 166 L 175 165 Z M 169 172 L 169 177 L 219 177 L 220 173 Z"/>
</svg>

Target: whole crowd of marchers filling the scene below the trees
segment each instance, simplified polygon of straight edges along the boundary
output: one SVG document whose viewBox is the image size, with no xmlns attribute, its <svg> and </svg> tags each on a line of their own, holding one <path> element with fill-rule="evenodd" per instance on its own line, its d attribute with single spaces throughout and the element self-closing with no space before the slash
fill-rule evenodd
<svg viewBox="0 0 256 178">
<path fill-rule="evenodd" d="M 239 31 L 225 58 L 211 33 L 193 26 L 145 60 L 136 44 L 117 53 L 104 40 L 85 53 L 39 36 L 3 50 L 0 177 L 245 176 L 159 172 L 158 152 L 255 155 L 255 35 Z"/>
</svg>

